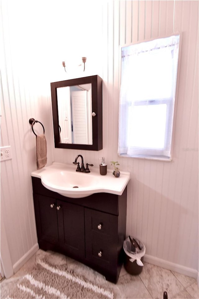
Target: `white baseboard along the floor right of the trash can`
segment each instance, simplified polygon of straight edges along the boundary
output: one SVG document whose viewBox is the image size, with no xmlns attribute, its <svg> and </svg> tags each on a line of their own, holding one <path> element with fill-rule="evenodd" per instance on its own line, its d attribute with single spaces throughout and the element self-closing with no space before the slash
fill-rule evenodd
<svg viewBox="0 0 199 299">
<path fill-rule="evenodd" d="M 177 272 L 177 273 L 189 276 L 189 277 L 193 277 L 198 280 L 198 271 L 195 269 L 188 268 L 188 267 L 185 267 L 185 266 L 182 266 L 179 264 L 171 263 L 164 259 L 159 259 L 159 258 L 156 258 L 156 257 L 148 255 L 148 254 L 145 254 L 144 261 L 146 263 L 149 263 L 149 264 L 152 264 L 152 265 L 155 265 L 155 266 L 167 269 L 167 270 L 171 270 L 171 271 L 174 271 L 174 272 Z"/>
</svg>

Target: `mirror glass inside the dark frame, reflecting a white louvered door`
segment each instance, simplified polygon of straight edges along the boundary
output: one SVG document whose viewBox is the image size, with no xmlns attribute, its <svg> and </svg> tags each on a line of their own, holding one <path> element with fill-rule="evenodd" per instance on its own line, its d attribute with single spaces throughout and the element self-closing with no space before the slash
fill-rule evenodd
<svg viewBox="0 0 199 299">
<path fill-rule="evenodd" d="M 60 142 L 92 145 L 91 83 L 57 88 Z"/>
</svg>

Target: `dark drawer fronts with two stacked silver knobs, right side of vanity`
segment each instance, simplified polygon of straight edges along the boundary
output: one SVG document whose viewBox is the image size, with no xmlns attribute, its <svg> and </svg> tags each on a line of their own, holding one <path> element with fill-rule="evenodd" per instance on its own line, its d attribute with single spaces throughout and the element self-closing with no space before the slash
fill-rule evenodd
<svg viewBox="0 0 199 299">
<path fill-rule="evenodd" d="M 118 217 L 85 209 L 86 259 L 101 268 L 117 268 Z"/>
</svg>

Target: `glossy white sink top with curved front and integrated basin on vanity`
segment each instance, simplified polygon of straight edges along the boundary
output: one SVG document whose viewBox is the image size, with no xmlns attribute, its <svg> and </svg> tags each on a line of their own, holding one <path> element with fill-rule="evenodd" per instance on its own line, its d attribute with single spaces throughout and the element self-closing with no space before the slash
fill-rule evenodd
<svg viewBox="0 0 199 299">
<path fill-rule="evenodd" d="M 99 169 L 90 167 L 90 173 L 76 172 L 76 165 L 53 163 L 33 171 L 31 176 L 41 178 L 47 189 L 66 197 L 86 197 L 93 193 L 106 192 L 122 195 L 130 179 L 130 173 L 120 172 L 115 178 L 113 171 L 100 175 Z"/>
</svg>

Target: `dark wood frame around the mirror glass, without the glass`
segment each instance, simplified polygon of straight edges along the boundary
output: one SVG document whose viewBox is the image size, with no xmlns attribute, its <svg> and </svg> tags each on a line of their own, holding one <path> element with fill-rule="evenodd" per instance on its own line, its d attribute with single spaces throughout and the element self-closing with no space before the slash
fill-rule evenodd
<svg viewBox="0 0 199 299">
<path fill-rule="evenodd" d="M 92 117 L 92 145 L 85 144 L 70 144 L 60 143 L 59 137 L 59 124 L 58 124 L 58 101 L 57 101 L 57 88 L 74 86 L 80 84 L 91 83 L 92 86 L 92 112 L 96 116 Z M 54 142 L 56 148 L 61 149 L 76 149 L 76 150 L 102 150 L 102 78 L 98 75 L 76 78 L 71 80 L 64 80 L 52 82 L 51 97 L 53 108 L 53 129 L 54 129 Z"/>
</svg>

